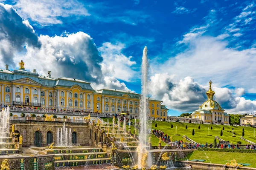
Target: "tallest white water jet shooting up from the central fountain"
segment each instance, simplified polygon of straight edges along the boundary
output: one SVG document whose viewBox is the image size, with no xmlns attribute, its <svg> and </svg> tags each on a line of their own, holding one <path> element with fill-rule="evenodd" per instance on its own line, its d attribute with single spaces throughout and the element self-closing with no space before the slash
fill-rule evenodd
<svg viewBox="0 0 256 170">
<path fill-rule="evenodd" d="M 139 167 L 146 166 L 146 159 L 148 151 L 146 148 L 147 141 L 147 113 L 148 110 L 148 49 L 145 46 L 143 50 L 142 66 L 141 66 L 141 97 L 140 97 L 140 135 L 139 141 L 140 146 L 137 148 L 138 151 L 138 165 Z"/>
</svg>

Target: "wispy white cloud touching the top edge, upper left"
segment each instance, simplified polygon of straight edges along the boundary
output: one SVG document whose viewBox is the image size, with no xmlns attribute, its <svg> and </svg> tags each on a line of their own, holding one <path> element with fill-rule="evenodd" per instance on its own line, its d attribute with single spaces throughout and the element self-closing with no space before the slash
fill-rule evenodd
<svg viewBox="0 0 256 170">
<path fill-rule="evenodd" d="M 22 17 L 43 26 L 62 23 L 60 17 L 90 15 L 78 0 L 17 0 L 14 7 Z"/>
</svg>

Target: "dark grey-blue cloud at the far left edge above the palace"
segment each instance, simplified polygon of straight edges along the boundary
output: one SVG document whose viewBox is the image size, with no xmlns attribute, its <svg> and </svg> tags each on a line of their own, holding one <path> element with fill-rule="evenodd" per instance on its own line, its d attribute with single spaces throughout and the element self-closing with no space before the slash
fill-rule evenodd
<svg viewBox="0 0 256 170">
<path fill-rule="evenodd" d="M 41 42 L 27 20 L 23 20 L 10 5 L 0 3 L 0 59 L 14 65 L 13 58 L 24 46 L 41 47 Z"/>
</svg>

